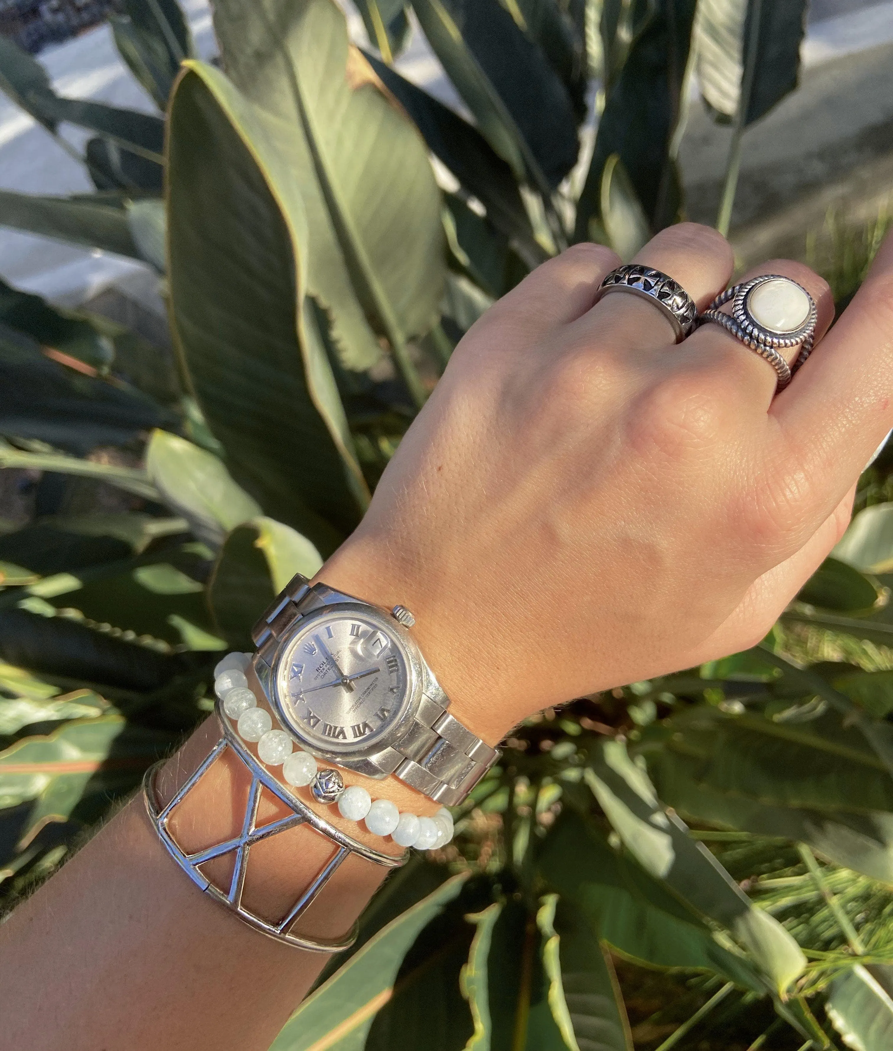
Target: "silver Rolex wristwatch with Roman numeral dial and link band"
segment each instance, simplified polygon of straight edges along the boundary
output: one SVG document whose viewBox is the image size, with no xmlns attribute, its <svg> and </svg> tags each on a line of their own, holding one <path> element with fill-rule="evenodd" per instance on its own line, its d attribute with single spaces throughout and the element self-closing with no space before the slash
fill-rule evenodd
<svg viewBox="0 0 893 1051">
<path fill-rule="evenodd" d="M 456 806 L 497 761 L 446 710 L 403 606 L 389 612 L 297 575 L 254 625 L 253 663 L 270 706 L 319 759 L 393 774 Z"/>
</svg>

